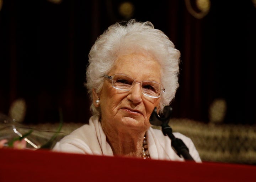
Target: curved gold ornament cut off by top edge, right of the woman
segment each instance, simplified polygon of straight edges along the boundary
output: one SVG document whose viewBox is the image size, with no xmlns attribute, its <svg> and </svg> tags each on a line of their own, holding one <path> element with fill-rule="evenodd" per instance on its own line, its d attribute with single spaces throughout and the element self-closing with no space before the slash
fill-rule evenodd
<svg viewBox="0 0 256 182">
<path fill-rule="evenodd" d="M 188 12 L 197 19 L 206 16 L 210 10 L 210 0 L 185 0 Z"/>
</svg>

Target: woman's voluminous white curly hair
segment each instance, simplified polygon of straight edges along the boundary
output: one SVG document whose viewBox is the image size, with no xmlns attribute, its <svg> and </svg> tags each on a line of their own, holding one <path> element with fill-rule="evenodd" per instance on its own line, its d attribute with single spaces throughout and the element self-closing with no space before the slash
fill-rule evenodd
<svg viewBox="0 0 256 182">
<path fill-rule="evenodd" d="M 103 75 L 108 75 L 117 57 L 127 51 L 149 53 L 160 63 L 161 84 L 165 92 L 161 95 L 159 114 L 174 99 L 179 86 L 180 51 L 175 48 L 167 35 L 155 29 L 151 22 L 132 19 L 108 27 L 90 50 L 85 86 L 91 99 L 92 115 L 100 115 L 100 107 L 95 107 L 93 104 L 92 89 L 94 88 L 97 93 L 100 92 Z"/>
</svg>

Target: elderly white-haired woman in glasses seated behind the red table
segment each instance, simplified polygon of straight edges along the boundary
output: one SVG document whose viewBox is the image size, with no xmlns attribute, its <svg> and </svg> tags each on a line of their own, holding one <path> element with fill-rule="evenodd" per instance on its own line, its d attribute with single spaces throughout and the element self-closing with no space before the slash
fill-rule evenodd
<svg viewBox="0 0 256 182">
<path fill-rule="evenodd" d="M 60 140 L 54 151 L 143 159 L 178 160 L 171 140 L 149 122 L 178 88 L 180 51 L 151 22 L 116 23 L 100 35 L 89 53 L 86 87 L 92 116 Z M 201 162 L 190 138 L 174 133 Z"/>
</svg>

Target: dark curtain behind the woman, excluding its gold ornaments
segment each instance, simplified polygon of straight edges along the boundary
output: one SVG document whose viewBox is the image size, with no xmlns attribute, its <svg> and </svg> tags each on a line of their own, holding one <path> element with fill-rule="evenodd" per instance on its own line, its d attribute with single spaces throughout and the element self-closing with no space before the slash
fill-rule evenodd
<svg viewBox="0 0 256 182">
<path fill-rule="evenodd" d="M 192 0 L 191 0 L 192 1 Z M 122 0 L 3 0 L 0 11 L 0 112 L 26 100 L 24 122 L 87 122 L 88 53 L 98 35 L 126 20 Z M 210 1 L 193 17 L 185 1 L 130 0 L 135 18 L 151 21 L 181 51 L 173 116 L 209 122 L 215 99 L 227 103 L 224 123 L 256 123 L 256 6 L 251 0 Z"/>
</svg>

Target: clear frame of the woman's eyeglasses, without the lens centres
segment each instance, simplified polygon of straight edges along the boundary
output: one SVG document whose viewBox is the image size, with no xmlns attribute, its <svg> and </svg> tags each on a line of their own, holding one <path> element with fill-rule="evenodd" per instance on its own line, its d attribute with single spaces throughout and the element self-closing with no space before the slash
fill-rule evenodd
<svg viewBox="0 0 256 182">
<path fill-rule="evenodd" d="M 114 82 L 114 79 L 113 79 L 115 76 L 124 76 L 124 77 L 127 77 L 127 78 L 132 79 L 132 80 L 133 80 L 132 85 L 130 86 L 129 89 L 122 89 L 122 88 L 116 87 L 116 86 L 114 85 L 115 82 Z M 114 74 L 113 76 L 104 75 L 103 77 L 110 79 L 110 81 L 111 81 L 111 83 L 112 83 L 112 87 L 115 88 L 115 89 L 117 89 L 117 90 L 129 91 L 129 90 L 131 90 L 131 89 L 134 87 L 134 85 L 135 85 L 136 83 L 140 83 L 140 89 L 141 89 L 141 91 L 142 91 L 142 94 L 143 94 L 143 95 L 146 95 L 146 96 L 149 96 L 149 97 L 151 97 L 151 98 L 159 98 L 159 97 L 162 95 L 162 93 L 165 92 L 164 87 L 163 87 L 160 83 L 154 82 L 154 81 L 137 82 L 136 79 L 134 79 L 134 78 L 132 78 L 132 77 L 130 77 L 130 76 L 128 76 L 128 75 L 124 75 L 124 74 Z M 145 93 L 145 91 L 144 91 L 143 88 L 142 88 L 143 83 L 145 83 L 145 82 L 146 82 L 146 83 L 152 83 L 152 84 L 158 85 L 159 88 L 160 88 L 160 89 L 159 89 L 159 90 L 160 90 L 160 93 L 159 93 L 158 95 L 149 95 L 149 94 Z"/>
</svg>

